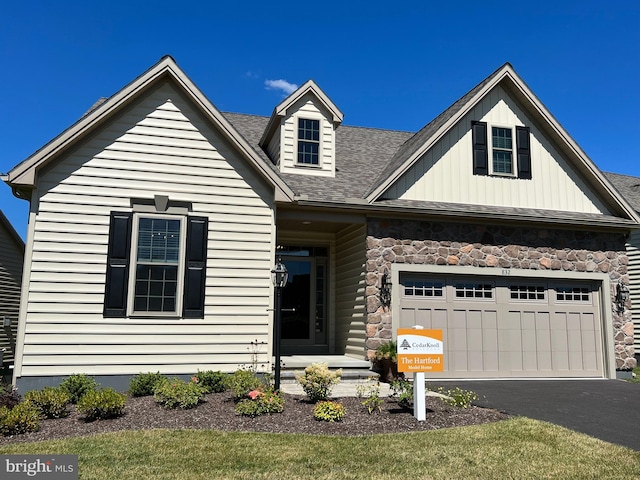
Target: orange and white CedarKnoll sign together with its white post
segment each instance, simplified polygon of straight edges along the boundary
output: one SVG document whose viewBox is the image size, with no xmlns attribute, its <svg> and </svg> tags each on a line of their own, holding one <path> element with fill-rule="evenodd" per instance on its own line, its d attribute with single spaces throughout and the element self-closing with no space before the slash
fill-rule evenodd
<svg viewBox="0 0 640 480">
<path fill-rule="evenodd" d="M 413 416 L 427 418 L 425 372 L 444 370 L 442 330 L 425 330 L 423 326 L 398 329 L 398 371 L 413 373 Z"/>
</svg>

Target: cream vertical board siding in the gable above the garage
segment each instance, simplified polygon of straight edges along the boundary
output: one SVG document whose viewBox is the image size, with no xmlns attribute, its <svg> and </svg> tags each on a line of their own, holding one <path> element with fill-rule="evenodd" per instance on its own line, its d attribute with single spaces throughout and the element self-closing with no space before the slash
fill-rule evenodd
<svg viewBox="0 0 640 480">
<path fill-rule="evenodd" d="M 531 129 L 533 178 L 473 174 L 471 121 Z M 515 131 L 514 131 L 515 148 Z M 514 150 L 514 161 L 515 161 Z M 491 152 L 489 152 L 491 163 Z M 509 94 L 496 87 L 387 191 L 385 198 L 609 214 Z"/>
</svg>

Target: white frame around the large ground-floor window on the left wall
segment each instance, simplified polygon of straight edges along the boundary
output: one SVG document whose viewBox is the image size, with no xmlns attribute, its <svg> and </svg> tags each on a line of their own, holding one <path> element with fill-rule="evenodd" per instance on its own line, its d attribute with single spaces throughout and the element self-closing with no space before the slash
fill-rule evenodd
<svg viewBox="0 0 640 480">
<path fill-rule="evenodd" d="M 178 273 L 176 285 L 176 310 L 174 312 L 136 312 L 133 309 L 136 289 L 136 269 L 138 266 L 138 228 L 140 218 L 167 218 L 180 220 L 180 253 L 178 254 Z M 182 302 L 184 297 L 184 269 L 185 269 L 185 248 L 187 236 L 187 217 L 185 215 L 167 215 L 158 213 L 138 213 L 134 212 L 133 225 L 131 226 L 131 254 L 129 262 L 129 289 L 127 296 L 127 314 L 129 317 L 163 317 L 181 318 Z"/>
</svg>

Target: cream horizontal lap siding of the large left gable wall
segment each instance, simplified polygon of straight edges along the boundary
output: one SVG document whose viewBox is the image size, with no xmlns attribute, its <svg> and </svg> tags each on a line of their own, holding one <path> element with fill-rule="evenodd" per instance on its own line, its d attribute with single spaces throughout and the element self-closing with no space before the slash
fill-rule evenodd
<svg viewBox="0 0 640 480">
<path fill-rule="evenodd" d="M 104 318 L 109 214 L 168 195 L 209 218 L 204 319 Z M 273 189 L 170 83 L 42 172 L 17 377 L 269 361 Z"/>
</svg>

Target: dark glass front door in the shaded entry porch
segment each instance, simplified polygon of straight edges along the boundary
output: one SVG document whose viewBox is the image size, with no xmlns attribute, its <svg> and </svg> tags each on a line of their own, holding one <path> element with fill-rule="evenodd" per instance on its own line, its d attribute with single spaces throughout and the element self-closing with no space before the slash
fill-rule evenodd
<svg viewBox="0 0 640 480">
<path fill-rule="evenodd" d="M 284 247 L 278 256 L 289 272 L 282 290 L 282 352 L 328 353 L 327 249 Z"/>
</svg>

